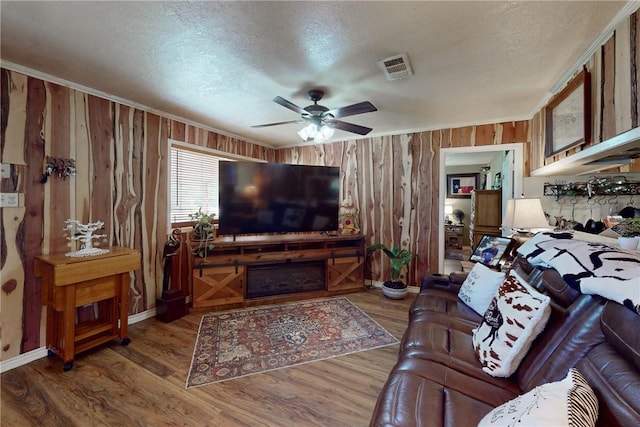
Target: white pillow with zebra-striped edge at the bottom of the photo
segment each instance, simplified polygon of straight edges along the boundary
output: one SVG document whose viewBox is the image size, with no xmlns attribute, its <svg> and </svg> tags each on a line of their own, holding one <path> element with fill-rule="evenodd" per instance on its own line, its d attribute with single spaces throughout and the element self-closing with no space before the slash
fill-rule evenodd
<svg viewBox="0 0 640 427">
<path fill-rule="evenodd" d="M 562 381 L 548 383 L 489 412 L 478 427 L 593 427 L 598 399 L 582 374 L 571 368 Z"/>
</svg>

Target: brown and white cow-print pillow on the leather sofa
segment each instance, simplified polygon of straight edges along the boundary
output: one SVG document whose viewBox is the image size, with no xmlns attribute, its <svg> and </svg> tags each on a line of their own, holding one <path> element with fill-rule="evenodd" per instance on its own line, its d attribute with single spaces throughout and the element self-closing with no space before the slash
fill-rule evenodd
<svg viewBox="0 0 640 427">
<path fill-rule="evenodd" d="M 473 348 L 483 371 L 508 377 L 518 369 L 549 320 L 550 302 L 548 296 L 515 275 L 504 279 L 484 320 L 473 330 Z"/>
</svg>

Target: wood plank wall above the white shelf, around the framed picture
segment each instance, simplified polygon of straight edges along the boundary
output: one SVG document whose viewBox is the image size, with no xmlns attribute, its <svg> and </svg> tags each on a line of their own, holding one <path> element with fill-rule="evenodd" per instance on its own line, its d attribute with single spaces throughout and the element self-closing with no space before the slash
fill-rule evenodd
<svg viewBox="0 0 640 427">
<path fill-rule="evenodd" d="M 544 157 L 544 109 L 532 119 L 531 170 L 637 128 L 640 116 L 640 12 L 616 28 L 614 34 L 585 64 L 591 73 L 592 141 L 549 158 Z M 603 172 L 640 172 L 640 159 Z"/>
</svg>

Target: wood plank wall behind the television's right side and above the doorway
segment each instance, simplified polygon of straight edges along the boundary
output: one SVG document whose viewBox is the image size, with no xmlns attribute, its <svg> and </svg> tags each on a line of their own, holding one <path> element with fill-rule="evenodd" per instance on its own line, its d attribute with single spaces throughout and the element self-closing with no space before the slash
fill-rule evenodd
<svg viewBox="0 0 640 427">
<path fill-rule="evenodd" d="M 417 254 L 403 280 L 419 285 L 438 265 L 440 149 L 528 144 L 529 124 L 525 120 L 287 148 L 276 151 L 276 161 L 340 166 L 341 198 L 358 209 L 367 244 L 398 245 Z M 375 255 L 365 274 L 387 280 L 388 260 Z"/>
</svg>

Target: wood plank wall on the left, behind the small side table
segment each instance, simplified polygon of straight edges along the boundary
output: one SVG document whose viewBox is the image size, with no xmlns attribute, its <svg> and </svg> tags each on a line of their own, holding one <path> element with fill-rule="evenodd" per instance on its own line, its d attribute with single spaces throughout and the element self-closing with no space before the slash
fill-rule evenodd
<svg viewBox="0 0 640 427">
<path fill-rule="evenodd" d="M 33 258 L 75 249 L 62 231 L 67 218 L 104 221 L 103 246 L 139 249 L 142 268 L 132 273 L 130 314 L 155 306 L 169 231 L 170 137 L 260 160 L 275 158 L 272 149 L 64 86 L 5 69 L 0 75 L 0 153 L 2 162 L 17 165 L 9 181 L 25 194 L 24 207 L 2 208 L 0 215 L 0 360 L 44 342 Z M 41 183 L 46 156 L 75 159 L 76 176 L 51 176 Z"/>
</svg>

